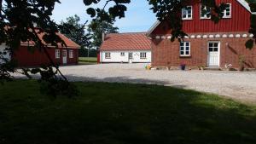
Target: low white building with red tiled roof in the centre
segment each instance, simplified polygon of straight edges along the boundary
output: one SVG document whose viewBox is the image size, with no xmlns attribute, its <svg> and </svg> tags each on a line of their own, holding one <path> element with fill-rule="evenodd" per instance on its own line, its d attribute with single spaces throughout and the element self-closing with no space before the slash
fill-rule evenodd
<svg viewBox="0 0 256 144">
<path fill-rule="evenodd" d="M 144 32 L 110 33 L 103 37 L 100 63 L 150 63 L 151 41 Z"/>
</svg>

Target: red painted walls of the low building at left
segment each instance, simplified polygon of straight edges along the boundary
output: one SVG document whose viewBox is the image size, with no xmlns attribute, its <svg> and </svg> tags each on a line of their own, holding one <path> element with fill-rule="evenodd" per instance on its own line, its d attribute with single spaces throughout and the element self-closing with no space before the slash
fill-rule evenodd
<svg viewBox="0 0 256 144">
<path fill-rule="evenodd" d="M 62 49 L 60 59 L 55 59 L 55 48 L 49 48 L 48 52 L 52 60 L 56 64 L 63 65 L 62 63 Z M 67 49 L 67 65 L 76 65 L 79 61 L 79 50 L 78 49 L 72 49 L 73 50 L 73 58 L 69 58 L 69 50 Z M 15 51 L 15 54 L 13 55 L 13 59 L 17 60 L 19 66 L 42 66 L 42 65 L 48 65 L 49 59 L 45 55 L 43 51 L 39 51 L 38 49 L 35 50 L 33 53 L 30 52 L 27 47 L 20 46 L 20 49 L 17 49 Z"/>
</svg>

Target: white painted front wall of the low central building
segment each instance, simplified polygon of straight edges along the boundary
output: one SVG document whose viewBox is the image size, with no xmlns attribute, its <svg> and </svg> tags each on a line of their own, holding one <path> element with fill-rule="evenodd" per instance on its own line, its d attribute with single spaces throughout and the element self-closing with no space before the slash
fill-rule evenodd
<svg viewBox="0 0 256 144">
<path fill-rule="evenodd" d="M 125 53 L 125 56 L 122 56 L 121 53 Z M 141 59 L 140 53 L 146 52 L 147 58 Z M 106 59 L 105 54 L 110 53 L 111 58 Z M 128 55 L 132 53 L 132 62 L 133 63 L 151 63 L 151 51 L 150 50 L 131 50 L 131 51 L 101 51 L 101 62 L 129 62 Z"/>
</svg>

